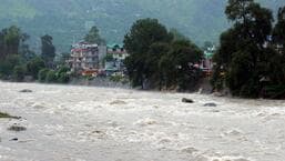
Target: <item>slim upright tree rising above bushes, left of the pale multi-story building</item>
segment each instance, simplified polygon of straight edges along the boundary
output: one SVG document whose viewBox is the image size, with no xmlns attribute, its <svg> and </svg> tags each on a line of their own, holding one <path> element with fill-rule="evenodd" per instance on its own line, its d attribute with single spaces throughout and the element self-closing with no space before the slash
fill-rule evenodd
<svg viewBox="0 0 285 161">
<path fill-rule="evenodd" d="M 55 57 L 55 47 L 52 44 L 52 37 L 49 34 L 41 37 L 41 57 L 51 68 Z"/>
</svg>

